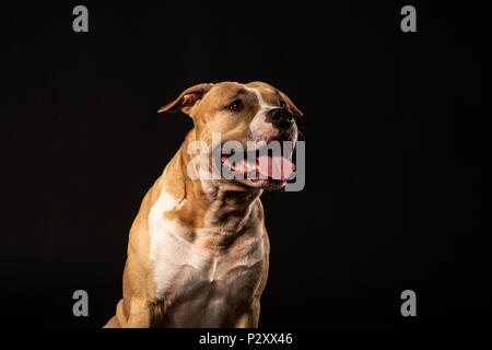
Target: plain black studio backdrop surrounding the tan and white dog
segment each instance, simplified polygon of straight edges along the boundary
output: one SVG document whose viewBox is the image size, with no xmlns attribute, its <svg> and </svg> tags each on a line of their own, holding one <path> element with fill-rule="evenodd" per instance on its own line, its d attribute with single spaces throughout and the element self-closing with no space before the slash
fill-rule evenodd
<svg viewBox="0 0 492 350">
<path fill-rule="evenodd" d="M 104 325 L 140 202 L 192 126 L 156 109 L 196 83 L 261 80 L 305 114 L 306 187 L 262 196 L 260 326 L 491 325 L 489 5 L 84 2 L 78 34 L 77 4 L 1 20 L 4 322 Z"/>
</svg>

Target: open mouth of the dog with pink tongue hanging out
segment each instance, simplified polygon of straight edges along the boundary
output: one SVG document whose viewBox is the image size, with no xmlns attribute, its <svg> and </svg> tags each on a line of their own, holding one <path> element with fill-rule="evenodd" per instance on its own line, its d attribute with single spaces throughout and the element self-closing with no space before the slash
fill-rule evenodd
<svg viewBox="0 0 492 350">
<path fill-rule="evenodd" d="M 235 178 L 247 178 L 251 182 L 284 182 L 295 170 L 288 155 L 270 154 L 271 150 L 222 154 L 222 165 L 233 172 Z"/>
</svg>

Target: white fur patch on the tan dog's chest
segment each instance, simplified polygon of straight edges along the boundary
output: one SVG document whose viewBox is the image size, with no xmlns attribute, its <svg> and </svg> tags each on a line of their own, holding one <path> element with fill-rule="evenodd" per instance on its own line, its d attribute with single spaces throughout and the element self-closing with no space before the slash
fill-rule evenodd
<svg viewBox="0 0 492 350">
<path fill-rule="evenodd" d="M 245 234 L 241 250 L 216 256 L 183 238 L 186 230 L 163 213 L 179 203 L 163 189 L 150 210 L 150 256 L 154 264 L 156 296 L 166 303 L 169 327 L 218 327 L 227 312 L 250 298 L 260 277 L 263 258 L 261 222 Z M 255 210 L 251 215 L 257 215 Z M 202 229 L 199 229 L 202 230 Z"/>
</svg>

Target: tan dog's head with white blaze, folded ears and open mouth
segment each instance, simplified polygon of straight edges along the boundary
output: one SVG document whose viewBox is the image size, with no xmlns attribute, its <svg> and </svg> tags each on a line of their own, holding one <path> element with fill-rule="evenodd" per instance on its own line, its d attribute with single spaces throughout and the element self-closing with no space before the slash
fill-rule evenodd
<svg viewBox="0 0 492 350">
<path fill-rule="evenodd" d="M 303 114 L 273 86 L 262 82 L 195 85 L 159 109 L 178 110 L 192 118 L 196 140 L 207 144 L 212 166 L 234 176 L 218 180 L 276 189 L 293 172 L 290 158 L 297 140 L 294 117 Z M 220 136 L 219 144 L 213 142 L 213 133 Z M 219 145 L 220 153 L 213 156 L 218 153 L 212 150 Z"/>
</svg>

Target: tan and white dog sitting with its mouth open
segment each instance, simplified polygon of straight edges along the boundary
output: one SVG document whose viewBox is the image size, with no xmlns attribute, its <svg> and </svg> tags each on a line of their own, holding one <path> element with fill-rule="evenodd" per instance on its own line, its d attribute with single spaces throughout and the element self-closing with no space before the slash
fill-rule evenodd
<svg viewBox="0 0 492 350">
<path fill-rule="evenodd" d="M 212 132 L 245 148 L 295 144 L 293 117 L 302 113 L 262 82 L 199 84 L 159 109 L 178 110 L 194 129 L 143 198 L 130 230 L 122 299 L 105 327 L 257 327 L 270 249 L 259 197 L 282 187 L 290 172 L 277 179 L 192 179 L 188 147 L 197 140 L 212 147 Z M 229 156 L 221 154 L 222 166 L 236 172 L 271 175 L 279 160 L 292 165 L 289 154 L 269 156 L 270 171 L 258 159 L 237 165 Z"/>
</svg>

